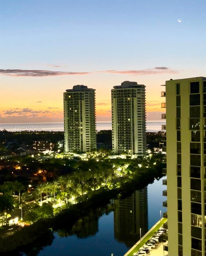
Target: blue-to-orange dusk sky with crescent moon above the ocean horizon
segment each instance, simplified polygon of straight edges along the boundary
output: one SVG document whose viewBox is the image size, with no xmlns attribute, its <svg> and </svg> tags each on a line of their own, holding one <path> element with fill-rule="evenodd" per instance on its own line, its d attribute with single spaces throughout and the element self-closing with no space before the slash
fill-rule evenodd
<svg viewBox="0 0 206 256">
<path fill-rule="evenodd" d="M 205 0 L 1 0 L 0 123 L 63 122 L 63 92 L 78 84 L 96 89 L 97 121 L 110 121 L 123 81 L 144 84 L 147 119 L 161 119 L 165 80 L 205 76 L 205 10 Z"/>
</svg>

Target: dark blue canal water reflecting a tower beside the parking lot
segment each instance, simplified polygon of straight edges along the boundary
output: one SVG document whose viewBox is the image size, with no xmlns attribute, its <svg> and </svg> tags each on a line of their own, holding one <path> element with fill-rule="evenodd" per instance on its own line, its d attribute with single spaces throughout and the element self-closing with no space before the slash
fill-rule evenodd
<svg viewBox="0 0 206 256">
<path fill-rule="evenodd" d="M 79 220 L 69 233 L 54 233 L 51 245 L 43 247 L 38 255 L 123 256 L 139 240 L 140 228 L 143 236 L 160 219 L 160 210 L 166 211 L 162 207 L 166 200 L 162 179 L 124 200 L 114 200 L 103 212 Z"/>
</svg>

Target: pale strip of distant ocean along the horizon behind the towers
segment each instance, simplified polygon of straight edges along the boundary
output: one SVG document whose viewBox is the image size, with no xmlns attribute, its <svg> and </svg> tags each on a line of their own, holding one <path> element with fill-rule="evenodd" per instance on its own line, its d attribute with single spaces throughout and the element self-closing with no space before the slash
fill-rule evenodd
<svg viewBox="0 0 206 256">
<path fill-rule="evenodd" d="M 165 125 L 166 121 L 163 120 L 147 120 L 146 131 L 158 132 L 161 131 L 162 125 Z M 7 131 L 64 131 L 64 123 L 17 123 L 17 124 L 0 124 L 0 130 L 6 129 Z M 111 130 L 112 122 L 97 122 L 97 131 Z"/>
</svg>

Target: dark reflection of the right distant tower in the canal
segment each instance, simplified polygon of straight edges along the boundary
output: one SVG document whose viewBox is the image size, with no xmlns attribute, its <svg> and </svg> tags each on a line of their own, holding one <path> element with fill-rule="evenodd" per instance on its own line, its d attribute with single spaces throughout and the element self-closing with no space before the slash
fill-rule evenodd
<svg viewBox="0 0 206 256">
<path fill-rule="evenodd" d="M 148 230 L 147 187 L 135 191 L 126 199 L 115 200 L 115 239 L 133 246 Z"/>
</svg>

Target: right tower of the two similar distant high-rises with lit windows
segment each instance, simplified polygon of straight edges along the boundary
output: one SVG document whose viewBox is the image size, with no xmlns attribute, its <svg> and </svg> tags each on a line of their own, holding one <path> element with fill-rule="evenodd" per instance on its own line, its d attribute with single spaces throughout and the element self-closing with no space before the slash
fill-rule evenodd
<svg viewBox="0 0 206 256">
<path fill-rule="evenodd" d="M 132 157 L 146 151 L 145 86 L 125 81 L 112 93 L 112 151 Z"/>
</svg>

